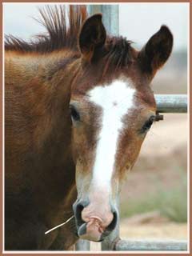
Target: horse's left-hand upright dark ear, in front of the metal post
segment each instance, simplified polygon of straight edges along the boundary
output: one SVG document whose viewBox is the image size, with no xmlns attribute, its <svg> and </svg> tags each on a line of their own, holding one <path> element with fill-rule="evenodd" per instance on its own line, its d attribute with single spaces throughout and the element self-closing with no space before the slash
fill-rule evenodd
<svg viewBox="0 0 192 256">
<path fill-rule="evenodd" d="M 90 62 L 95 50 L 101 48 L 106 42 L 106 30 L 102 24 L 102 14 L 94 14 L 86 19 L 82 25 L 78 38 L 82 58 Z"/>
</svg>

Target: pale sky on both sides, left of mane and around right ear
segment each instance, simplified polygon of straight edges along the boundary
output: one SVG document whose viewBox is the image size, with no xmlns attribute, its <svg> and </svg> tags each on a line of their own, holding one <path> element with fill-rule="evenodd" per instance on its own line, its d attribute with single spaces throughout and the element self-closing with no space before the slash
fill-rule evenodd
<svg viewBox="0 0 192 256">
<path fill-rule="evenodd" d="M 38 3 L 4 3 L 4 33 L 20 38 L 40 34 L 44 28 L 38 18 Z M 174 50 L 186 50 L 188 42 L 188 3 L 126 3 L 119 5 L 119 34 L 141 48 L 162 24 L 174 34 Z"/>
</svg>

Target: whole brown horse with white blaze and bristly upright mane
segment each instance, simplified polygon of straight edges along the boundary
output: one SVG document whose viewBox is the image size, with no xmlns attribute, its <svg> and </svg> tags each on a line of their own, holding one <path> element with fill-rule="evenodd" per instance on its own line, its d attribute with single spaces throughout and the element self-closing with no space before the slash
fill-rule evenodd
<svg viewBox="0 0 192 256">
<path fill-rule="evenodd" d="M 5 42 L 6 250 L 68 250 L 114 230 L 156 119 L 150 82 L 173 45 L 166 26 L 137 51 L 85 6 L 70 6 L 68 29 L 62 6 L 40 12 L 48 34 Z"/>
</svg>

